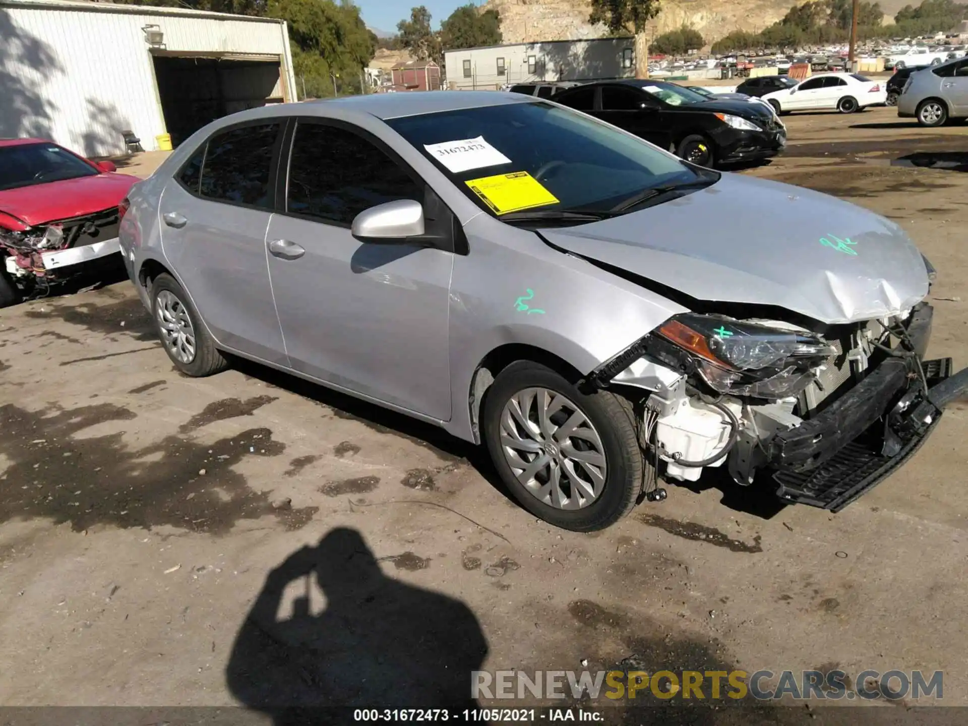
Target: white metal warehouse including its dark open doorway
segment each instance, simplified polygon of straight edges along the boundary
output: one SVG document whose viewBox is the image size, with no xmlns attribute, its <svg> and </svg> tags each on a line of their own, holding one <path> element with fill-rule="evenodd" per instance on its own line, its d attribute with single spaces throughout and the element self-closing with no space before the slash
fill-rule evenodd
<svg viewBox="0 0 968 726">
<path fill-rule="evenodd" d="M 209 121 L 295 101 L 285 21 L 181 8 L 0 0 L 0 137 L 86 156 L 177 145 Z"/>
</svg>

